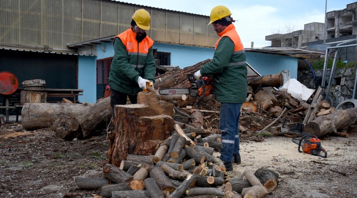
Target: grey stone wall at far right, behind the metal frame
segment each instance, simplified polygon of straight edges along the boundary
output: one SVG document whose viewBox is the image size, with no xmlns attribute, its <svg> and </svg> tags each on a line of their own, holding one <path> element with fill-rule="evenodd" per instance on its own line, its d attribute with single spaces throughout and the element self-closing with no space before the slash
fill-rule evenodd
<svg viewBox="0 0 357 198">
<path fill-rule="evenodd" d="M 323 69 L 314 70 L 315 80 L 311 70 L 303 70 L 297 72 L 297 80 L 310 89 L 317 89 L 321 86 Z M 327 70 L 325 87 L 327 88 L 330 80 L 331 69 Z M 354 84 L 355 84 L 356 68 L 336 69 L 333 76 L 330 90 L 330 97 L 339 102 L 346 99 L 352 99 Z M 325 89 L 325 96 L 327 89 Z M 337 102 L 337 103 L 339 103 Z"/>
</svg>

